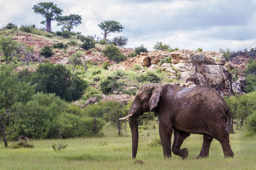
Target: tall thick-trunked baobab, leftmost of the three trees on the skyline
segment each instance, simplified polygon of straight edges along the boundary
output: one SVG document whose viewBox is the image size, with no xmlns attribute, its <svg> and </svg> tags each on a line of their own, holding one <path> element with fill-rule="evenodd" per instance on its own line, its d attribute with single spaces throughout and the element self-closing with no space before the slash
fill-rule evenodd
<svg viewBox="0 0 256 170">
<path fill-rule="evenodd" d="M 56 20 L 56 17 L 62 14 L 60 8 L 53 2 L 40 2 L 32 8 L 36 14 L 43 15 L 46 18 L 46 31 L 51 33 L 51 21 Z"/>
</svg>

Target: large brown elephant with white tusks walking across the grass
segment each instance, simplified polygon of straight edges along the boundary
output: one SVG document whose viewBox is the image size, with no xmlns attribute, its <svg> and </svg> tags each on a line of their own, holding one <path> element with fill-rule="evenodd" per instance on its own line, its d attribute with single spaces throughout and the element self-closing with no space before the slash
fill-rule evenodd
<svg viewBox="0 0 256 170">
<path fill-rule="evenodd" d="M 180 149 L 191 133 L 202 134 L 204 141 L 199 156 L 209 155 L 210 143 L 220 141 L 225 157 L 233 157 L 229 143 L 230 110 L 213 88 L 204 85 L 180 87 L 171 84 L 147 84 L 140 87 L 127 117 L 132 131 L 133 158 L 138 149 L 138 117 L 152 111 L 159 117 L 159 135 L 164 157 L 171 157 L 171 151 L 182 159 L 187 158 L 187 148 Z M 229 126 L 227 123 L 229 118 Z M 171 136 L 174 141 L 171 146 Z"/>
</svg>

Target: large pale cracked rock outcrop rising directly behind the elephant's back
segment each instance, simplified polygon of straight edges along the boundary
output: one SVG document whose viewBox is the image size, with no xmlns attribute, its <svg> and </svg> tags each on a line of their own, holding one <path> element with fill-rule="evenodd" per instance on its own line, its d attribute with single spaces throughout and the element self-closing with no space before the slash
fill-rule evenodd
<svg viewBox="0 0 256 170">
<path fill-rule="evenodd" d="M 140 63 L 142 66 L 157 68 L 154 64 L 162 58 L 170 57 L 171 63 L 164 63 L 162 71 L 170 73 L 170 78 L 179 79 L 185 83 L 196 85 L 206 84 L 215 88 L 223 95 L 231 95 L 231 74 L 225 67 L 225 58 L 218 52 L 195 52 L 192 50 L 178 50 L 173 52 L 156 51 L 141 53 L 130 59 L 130 62 Z"/>
</svg>

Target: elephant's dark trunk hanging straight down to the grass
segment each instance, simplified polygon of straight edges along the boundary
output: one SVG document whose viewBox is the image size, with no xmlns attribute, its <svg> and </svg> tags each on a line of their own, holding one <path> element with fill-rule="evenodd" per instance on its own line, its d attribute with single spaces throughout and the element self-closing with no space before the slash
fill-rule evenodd
<svg viewBox="0 0 256 170">
<path fill-rule="evenodd" d="M 133 159 L 135 159 L 138 150 L 138 116 L 129 118 L 129 125 L 132 131 Z"/>
</svg>

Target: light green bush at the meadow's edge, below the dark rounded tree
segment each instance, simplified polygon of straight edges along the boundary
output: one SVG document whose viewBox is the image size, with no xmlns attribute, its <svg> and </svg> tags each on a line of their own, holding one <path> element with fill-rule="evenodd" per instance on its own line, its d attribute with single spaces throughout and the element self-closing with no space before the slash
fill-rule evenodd
<svg viewBox="0 0 256 170">
<path fill-rule="evenodd" d="M 18 135 L 34 139 L 46 139 L 51 133 L 51 123 L 61 114 L 67 103 L 55 94 L 38 92 L 22 108 L 16 123 Z"/>
</svg>

